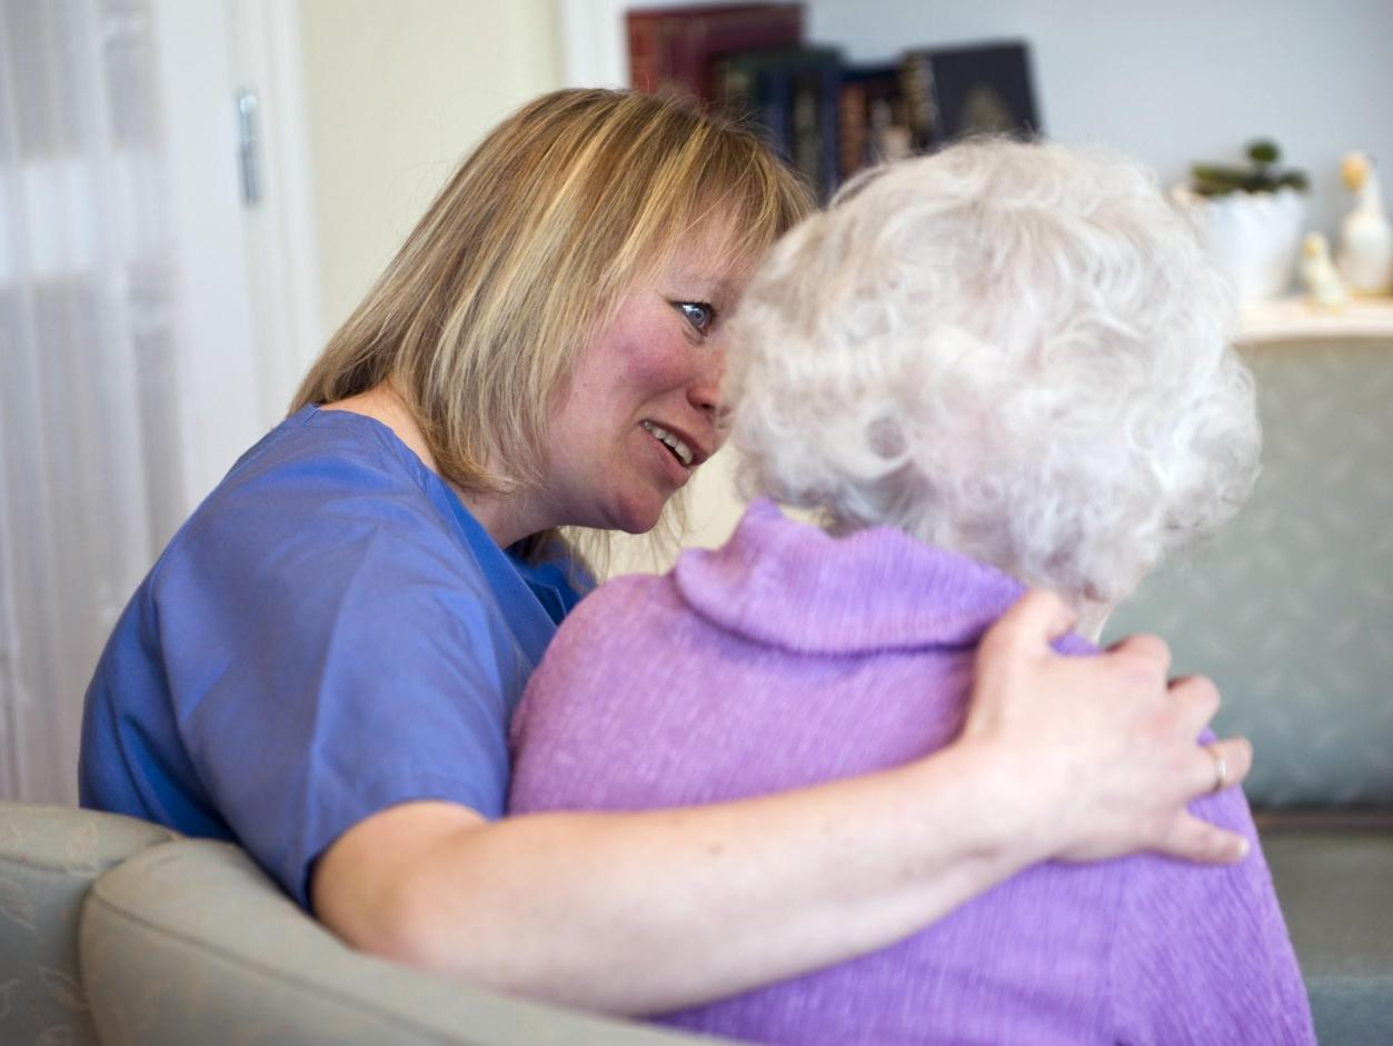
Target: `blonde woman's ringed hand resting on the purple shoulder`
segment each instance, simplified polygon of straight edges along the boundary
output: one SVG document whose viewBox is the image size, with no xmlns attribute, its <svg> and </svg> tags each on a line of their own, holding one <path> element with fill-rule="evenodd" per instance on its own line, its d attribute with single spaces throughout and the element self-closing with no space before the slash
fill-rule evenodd
<svg viewBox="0 0 1393 1046">
<path fill-rule="evenodd" d="M 1027 593 L 985 637 L 963 741 L 992 755 L 1002 811 L 1038 858 L 1094 861 L 1152 850 L 1202 862 L 1241 859 L 1247 841 L 1192 816 L 1213 790 L 1252 765 L 1244 738 L 1201 747 L 1219 692 L 1198 676 L 1167 681 L 1170 650 L 1155 637 L 1123 639 L 1098 657 L 1066 657 L 1050 641 L 1074 613 Z"/>
</svg>

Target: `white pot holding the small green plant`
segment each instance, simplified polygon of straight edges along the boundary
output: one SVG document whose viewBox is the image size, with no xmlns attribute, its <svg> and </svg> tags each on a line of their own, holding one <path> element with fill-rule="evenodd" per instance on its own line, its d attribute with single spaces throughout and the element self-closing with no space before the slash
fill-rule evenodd
<svg viewBox="0 0 1393 1046">
<path fill-rule="evenodd" d="M 1172 194 L 1187 210 L 1241 301 L 1276 298 L 1291 286 L 1307 198 L 1293 188 L 1201 196 L 1187 187 Z"/>
</svg>

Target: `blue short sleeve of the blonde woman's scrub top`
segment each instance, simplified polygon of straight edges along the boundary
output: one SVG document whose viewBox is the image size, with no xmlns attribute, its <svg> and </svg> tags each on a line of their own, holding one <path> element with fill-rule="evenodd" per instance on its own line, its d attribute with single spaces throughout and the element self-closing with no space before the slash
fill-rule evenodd
<svg viewBox="0 0 1393 1046">
<path fill-rule="evenodd" d="M 313 861 L 390 805 L 495 818 L 532 664 L 419 487 L 362 461 L 255 469 L 153 579 L 180 737 L 238 841 L 309 907 Z"/>
</svg>

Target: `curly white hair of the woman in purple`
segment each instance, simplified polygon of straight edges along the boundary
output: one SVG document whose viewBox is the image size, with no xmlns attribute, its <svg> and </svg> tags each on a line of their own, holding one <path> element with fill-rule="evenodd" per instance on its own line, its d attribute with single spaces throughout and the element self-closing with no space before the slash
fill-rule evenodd
<svg viewBox="0 0 1393 1046">
<path fill-rule="evenodd" d="M 731 326 L 741 486 L 1116 604 L 1247 499 L 1231 291 L 1123 157 L 978 139 L 781 240 Z"/>
</svg>

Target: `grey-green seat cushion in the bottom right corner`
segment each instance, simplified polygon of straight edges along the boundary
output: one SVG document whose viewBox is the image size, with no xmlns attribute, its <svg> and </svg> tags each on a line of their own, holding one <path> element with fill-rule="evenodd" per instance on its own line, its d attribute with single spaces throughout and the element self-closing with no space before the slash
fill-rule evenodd
<svg viewBox="0 0 1393 1046">
<path fill-rule="evenodd" d="M 1269 827 L 1262 848 L 1322 1043 L 1393 1035 L 1393 829 Z"/>
</svg>

